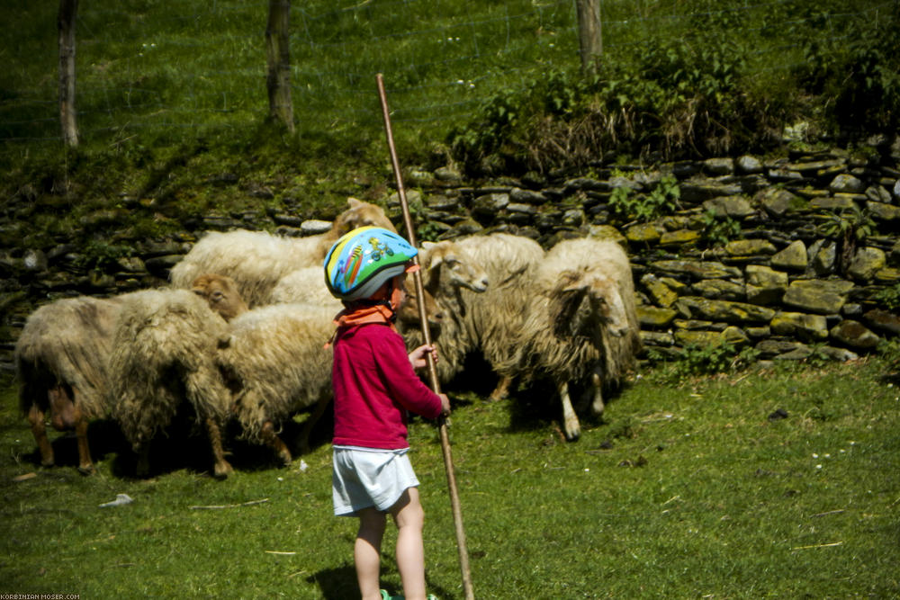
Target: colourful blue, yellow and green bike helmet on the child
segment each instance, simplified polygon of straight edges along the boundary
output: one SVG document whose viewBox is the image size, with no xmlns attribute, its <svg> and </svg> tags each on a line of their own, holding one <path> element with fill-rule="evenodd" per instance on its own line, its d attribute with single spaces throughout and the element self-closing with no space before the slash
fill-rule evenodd
<svg viewBox="0 0 900 600">
<path fill-rule="evenodd" d="M 325 256 L 325 284 L 341 300 L 369 298 L 384 282 L 405 273 L 418 254 L 392 231 L 356 228 L 338 239 Z"/>
</svg>

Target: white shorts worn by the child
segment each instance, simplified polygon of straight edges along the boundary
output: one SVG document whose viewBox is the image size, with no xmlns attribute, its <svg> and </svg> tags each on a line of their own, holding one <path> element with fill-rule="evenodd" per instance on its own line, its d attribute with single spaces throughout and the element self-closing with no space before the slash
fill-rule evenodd
<svg viewBox="0 0 900 600">
<path fill-rule="evenodd" d="M 376 450 L 357 446 L 335 446 L 331 495 L 335 515 L 356 516 L 370 506 L 387 511 L 408 488 L 419 486 L 412 470 L 409 448 Z"/>
</svg>

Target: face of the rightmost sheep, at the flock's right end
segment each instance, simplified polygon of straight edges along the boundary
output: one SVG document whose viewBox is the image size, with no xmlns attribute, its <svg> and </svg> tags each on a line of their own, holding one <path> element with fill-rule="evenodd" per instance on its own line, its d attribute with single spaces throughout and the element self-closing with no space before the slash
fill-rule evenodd
<svg viewBox="0 0 900 600">
<path fill-rule="evenodd" d="M 552 294 L 551 311 L 558 336 L 594 337 L 606 330 L 628 333 L 628 318 L 616 282 L 590 269 L 561 273 Z"/>
</svg>

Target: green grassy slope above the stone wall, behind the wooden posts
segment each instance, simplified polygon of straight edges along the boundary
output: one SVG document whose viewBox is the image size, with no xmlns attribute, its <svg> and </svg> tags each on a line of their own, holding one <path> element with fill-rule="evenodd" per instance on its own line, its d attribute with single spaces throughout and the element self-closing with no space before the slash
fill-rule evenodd
<svg viewBox="0 0 900 600">
<path fill-rule="evenodd" d="M 0 156 L 13 164 L 59 148 L 56 11 L 26 0 L 0 8 L 7 26 Z M 574 133 L 587 129 L 590 138 L 591 128 L 602 127 L 585 112 L 599 111 L 619 136 L 628 124 L 617 123 L 617 113 L 660 129 L 664 139 L 688 135 L 679 121 L 703 121 L 707 112 L 721 121 L 736 111 L 738 119 L 710 126 L 710 135 L 746 141 L 765 137 L 779 119 L 816 120 L 834 110 L 859 124 L 877 117 L 866 125 L 884 129 L 896 109 L 900 84 L 889 46 L 896 0 L 628 0 L 601 3 L 601 16 L 597 85 L 578 75 L 569 1 L 293 3 L 297 138 L 313 150 L 303 159 L 315 162 L 310 155 L 329 148 L 343 160 L 387 162 L 379 72 L 404 163 L 446 159 L 448 134 L 486 125 L 509 125 L 501 137 L 513 145 L 546 134 L 545 118 Z M 83 144 L 140 156 L 202 136 L 243 149 L 268 112 L 265 31 L 266 4 L 82 4 L 76 109 Z M 848 72 L 856 83 L 847 83 Z M 648 111 L 649 121 L 636 122 Z M 599 149 L 595 143 L 595 156 Z"/>
</svg>

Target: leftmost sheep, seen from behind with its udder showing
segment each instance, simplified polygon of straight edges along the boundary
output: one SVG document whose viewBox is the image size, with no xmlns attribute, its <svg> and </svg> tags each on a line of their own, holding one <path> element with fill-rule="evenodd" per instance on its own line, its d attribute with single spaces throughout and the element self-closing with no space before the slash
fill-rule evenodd
<svg viewBox="0 0 900 600">
<path fill-rule="evenodd" d="M 49 413 L 58 431 L 75 430 L 78 470 L 94 472 L 87 425 L 109 413 L 106 363 L 120 305 L 121 297 L 78 296 L 45 304 L 25 321 L 14 351 L 19 404 L 43 466 L 55 463 L 44 421 Z"/>
</svg>

